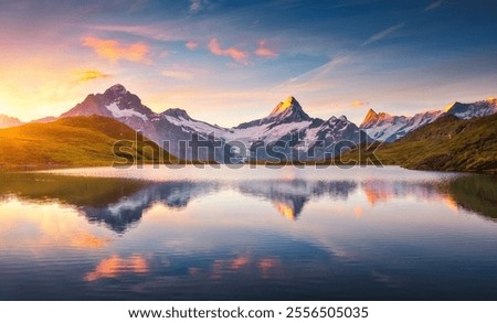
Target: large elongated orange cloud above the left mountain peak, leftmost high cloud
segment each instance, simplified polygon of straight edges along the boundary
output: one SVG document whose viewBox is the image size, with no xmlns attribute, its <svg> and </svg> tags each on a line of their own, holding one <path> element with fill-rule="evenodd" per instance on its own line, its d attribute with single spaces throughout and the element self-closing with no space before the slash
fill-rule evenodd
<svg viewBox="0 0 497 323">
<path fill-rule="evenodd" d="M 82 43 L 84 46 L 94 50 L 98 56 L 112 62 L 125 60 L 135 63 L 147 63 L 149 47 L 144 43 L 126 45 L 116 40 L 103 40 L 91 36 L 83 37 Z"/>
</svg>

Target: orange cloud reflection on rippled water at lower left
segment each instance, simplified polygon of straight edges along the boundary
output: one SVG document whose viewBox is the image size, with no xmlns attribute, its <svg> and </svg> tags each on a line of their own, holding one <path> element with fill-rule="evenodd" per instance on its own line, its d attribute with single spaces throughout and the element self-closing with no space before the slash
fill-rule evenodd
<svg viewBox="0 0 497 323">
<path fill-rule="evenodd" d="M 101 278 L 114 278 L 123 273 L 146 273 L 149 271 L 147 260 L 140 256 L 131 256 L 129 258 L 120 258 L 112 256 L 102 260 L 94 271 L 88 272 L 85 277 L 86 281 L 95 281 Z"/>
</svg>

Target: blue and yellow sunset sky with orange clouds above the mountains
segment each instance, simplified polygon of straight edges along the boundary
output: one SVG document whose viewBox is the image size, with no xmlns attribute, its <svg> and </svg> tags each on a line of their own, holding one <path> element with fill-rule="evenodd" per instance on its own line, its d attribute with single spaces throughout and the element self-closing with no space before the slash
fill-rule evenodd
<svg viewBox="0 0 497 323">
<path fill-rule="evenodd" d="M 497 96 L 496 1 L 0 0 L 0 114 L 123 84 L 224 127 L 294 96 L 360 123 Z"/>
</svg>

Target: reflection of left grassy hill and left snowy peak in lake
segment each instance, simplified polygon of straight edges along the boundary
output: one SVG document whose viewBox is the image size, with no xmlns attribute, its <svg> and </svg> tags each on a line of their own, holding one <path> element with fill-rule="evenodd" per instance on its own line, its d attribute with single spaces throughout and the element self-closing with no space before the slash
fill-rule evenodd
<svg viewBox="0 0 497 323">
<path fill-rule="evenodd" d="M 8 196 L 33 203 L 75 206 L 91 223 L 126 232 L 156 203 L 186 207 L 198 196 L 219 189 L 215 182 L 151 183 L 125 179 L 57 176 L 50 174 L 1 174 L 0 201 Z"/>
</svg>

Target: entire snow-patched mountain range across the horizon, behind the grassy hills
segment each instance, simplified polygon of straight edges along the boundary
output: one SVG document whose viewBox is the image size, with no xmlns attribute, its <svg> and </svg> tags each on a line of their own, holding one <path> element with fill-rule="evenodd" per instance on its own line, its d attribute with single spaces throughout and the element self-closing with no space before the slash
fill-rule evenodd
<svg viewBox="0 0 497 323">
<path fill-rule="evenodd" d="M 391 116 L 370 109 L 358 127 L 345 116 L 334 116 L 328 120 L 313 118 L 290 96 L 277 104 L 266 117 L 223 128 L 195 120 L 183 109 L 155 112 L 137 95 L 117 84 L 103 94 L 88 95 L 60 117 L 47 117 L 35 122 L 96 115 L 125 123 L 181 160 L 231 163 L 327 160 L 345 148 L 359 143 L 399 140 L 443 116 L 470 119 L 495 112 L 495 98 L 473 104 L 455 103 L 445 110 L 412 117 Z M 0 116 L 0 128 L 19 125 L 18 119 Z"/>
</svg>

